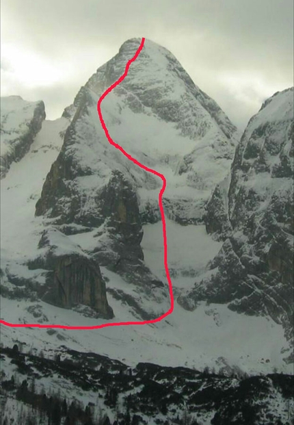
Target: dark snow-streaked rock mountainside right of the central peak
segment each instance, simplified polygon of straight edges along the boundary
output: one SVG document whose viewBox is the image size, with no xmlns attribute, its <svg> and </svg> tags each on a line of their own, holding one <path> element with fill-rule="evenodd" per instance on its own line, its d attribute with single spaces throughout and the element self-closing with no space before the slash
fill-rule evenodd
<svg viewBox="0 0 294 425">
<path fill-rule="evenodd" d="M 224 240 L 187 298 L 270 315 L 293 331 L 293 88 L 267 99 L 237 146 L 230 177 L 206 208 L 206 230 Z M 185 303 L 183 298 L 182 302 Z"/>
</svg>

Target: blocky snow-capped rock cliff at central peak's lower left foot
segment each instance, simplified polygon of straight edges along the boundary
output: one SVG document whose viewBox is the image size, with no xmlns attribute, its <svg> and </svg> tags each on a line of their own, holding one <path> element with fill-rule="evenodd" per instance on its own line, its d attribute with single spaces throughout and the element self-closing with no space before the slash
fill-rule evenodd
<svg viewBox="0 0 294 425">
<path fill-rule="evenodd" d="M 46 285 L 39 289 L 42 300 L 68 309 L 88 306 L 98 317 L 113 318 L 105 282 L 95 261 L 57 229 L 44 231 L 39 248 L 42 255 L 29 263 L 29 268 L 49 270 Z"/>
</svg>

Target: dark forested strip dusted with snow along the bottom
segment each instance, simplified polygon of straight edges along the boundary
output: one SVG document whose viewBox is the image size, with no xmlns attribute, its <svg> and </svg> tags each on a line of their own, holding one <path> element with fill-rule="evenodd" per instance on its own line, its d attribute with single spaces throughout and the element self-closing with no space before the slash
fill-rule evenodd
<svg viewBox="0 0 294 425">
<path fill-rule="evenodd" d="M 1 349 L 1 362 L 3 425 L 8 425 L 8 398 L 18 400 L 18 423 L 24 425 L 198 425 L 211 412 L 215 412 L 212 425 L 293 424 L 290 410 L 287 422 L 281 422 L 280 412 L 271 409 L 270 402 L 279 394 L 292 405 L 290 375 L 225 376 L 208 368 L 200 372 L 151 363 L 129 368 L 120 361 L 65 346 L 59 355 L 48 359 L 43 352 L 21 352 L 15 344 Z M 10 376 L 5 374 L 8 363 L 16 366 Z M 55 392 L 40 391 L 38 380 L 53 376 L 67 387 L 95 394 L 96 404 L 84 406 L 74 396 L 64 398 L 58 388 Z M 30 413 L 24 412 L 24 405 Z M 112 420 L 105 409 L 113 413 Z"/>
</svg>

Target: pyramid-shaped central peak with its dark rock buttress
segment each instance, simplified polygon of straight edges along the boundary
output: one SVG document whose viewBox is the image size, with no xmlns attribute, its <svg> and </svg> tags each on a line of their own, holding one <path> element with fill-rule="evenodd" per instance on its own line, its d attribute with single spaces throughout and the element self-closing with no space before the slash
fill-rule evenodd
<svg viewBox="0 0 294 425">
<path fill-rule="evenodd" d="M 99 97 L 124 73 L 140 41 L 122 44 L 64 111 L 71 123 L 44 182 L 36 216 L 49 218 L 67 235 L 88 232 L 83 252 L 135 284 L 134 305 L 143 295 L 164 313 L 168 285 L 145 266 L 140 246 L 142 223 L 161 219 L 161 181 L 109 144 L 96 111 Z M 236 144 L 236 128 L 217 104 L 195 86 L 172 53 L 146 40 L 129 74 L 101 108 L 116 143 L 139 162 L 170 176 L 163 201 L 167 216 L 182 224 L 201 222 L 204 205 L 213 185 L 228 172 Z M 118 294 L 122 292 L 113 296 Z M 129 300 L 129 294 L 125 297 Z M 146 311 L 144 318 L 158 315 Z"/>
</svg>

